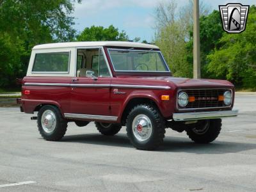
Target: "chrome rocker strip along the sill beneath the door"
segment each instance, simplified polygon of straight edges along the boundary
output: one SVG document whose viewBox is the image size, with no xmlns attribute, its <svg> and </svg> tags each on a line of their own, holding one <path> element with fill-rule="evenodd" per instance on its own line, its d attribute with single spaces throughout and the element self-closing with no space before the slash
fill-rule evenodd
<svg viewBox="0 0 256 192">
<path fill-rule="evenodd" d="M 117 116 L 105 116 L 105 115 L 86 115 L 76 113 L 64 113 L 65 118 L 81 118 L 81 119 L 93 119 L 93 120 L 110 120 L 116 121 Z"/>
</svg>

